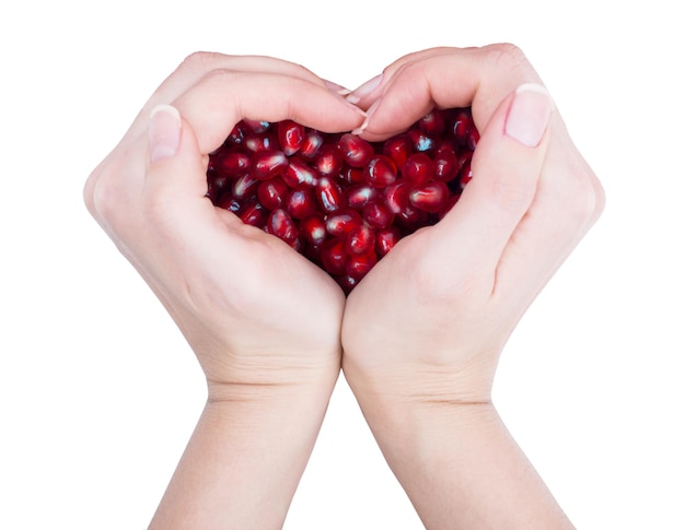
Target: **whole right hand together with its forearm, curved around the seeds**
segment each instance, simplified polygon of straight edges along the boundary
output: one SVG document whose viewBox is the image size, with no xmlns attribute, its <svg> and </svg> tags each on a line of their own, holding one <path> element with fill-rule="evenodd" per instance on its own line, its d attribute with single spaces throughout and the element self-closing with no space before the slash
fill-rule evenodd
<svg viewBox="0 0 685 530">
<path fill-rule="evenodd" d="M 351 97 L 369 140 L 469 105 L 481 137 L 455 208 L 348 297 L 346 378 L 429 528 L 564 527 L 490 391 L 512 330 L 602 211 L 602 188 L 513 46 L 413 54 Z"/>
</svg>

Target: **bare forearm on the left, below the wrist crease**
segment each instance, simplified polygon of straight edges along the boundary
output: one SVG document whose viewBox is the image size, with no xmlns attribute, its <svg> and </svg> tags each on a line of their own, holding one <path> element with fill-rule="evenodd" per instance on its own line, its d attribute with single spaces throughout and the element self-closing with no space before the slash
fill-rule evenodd
<svg viewBox="0 0 685 530">
<path fill-rule="evenodd" d="M 210 400 L 150 529 L 281 528 L 332 388 Z"/>
</svg>

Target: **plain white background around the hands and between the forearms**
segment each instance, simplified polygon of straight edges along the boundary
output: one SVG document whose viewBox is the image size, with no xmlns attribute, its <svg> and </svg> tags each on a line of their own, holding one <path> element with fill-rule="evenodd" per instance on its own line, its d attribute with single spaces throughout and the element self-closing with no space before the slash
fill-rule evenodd
<svg viewBox="0 0 685 530">
<path fill-rule="evenodd" d="M 512 338 L 497 404 L 579 528 L 684 529 L 676 5 L 4 2 L 0 528 L 144 528 L 201 410 L 190 350 L 81 199 L 186 55 L 271 55 L 355 87 L 409 51 L 506 40 L 545 80 L 608 202 Z M 342 379 L 286 528 L 421 528 Z"/>
</svg>

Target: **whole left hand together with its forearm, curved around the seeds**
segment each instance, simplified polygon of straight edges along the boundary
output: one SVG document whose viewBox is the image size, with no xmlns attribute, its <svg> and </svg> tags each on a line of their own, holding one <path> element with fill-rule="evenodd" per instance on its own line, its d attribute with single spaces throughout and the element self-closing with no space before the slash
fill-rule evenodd
<svg viewBox="0 0 685 530">
<path fill-rule="evenodd" d="M 196 54 L 89 178 L 89 210 L 208 380 L 151 528 L 280 528 L 339 373 L 341 291 L 278 238 L 212 205 L 208 153 L 243 118 L 334 132 L 362 116 L 295 64 Z"/>
</svg>

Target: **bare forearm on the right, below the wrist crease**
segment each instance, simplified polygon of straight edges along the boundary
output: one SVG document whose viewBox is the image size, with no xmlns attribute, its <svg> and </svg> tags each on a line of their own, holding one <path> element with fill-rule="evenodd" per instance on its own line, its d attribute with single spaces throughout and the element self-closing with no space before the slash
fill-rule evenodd
<svg viewBox="0 0 685 530">
<path fill-rule="evenodd" d="M 428 529 L 573 528 L 491 403 L 358 399 Z"/>
</svg>

